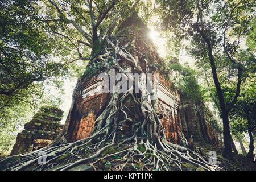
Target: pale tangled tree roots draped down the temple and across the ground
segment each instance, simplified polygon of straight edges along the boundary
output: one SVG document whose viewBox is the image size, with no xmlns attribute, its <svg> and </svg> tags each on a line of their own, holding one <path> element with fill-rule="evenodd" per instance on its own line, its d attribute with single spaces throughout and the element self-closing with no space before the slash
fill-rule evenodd
<svg viewBox="0 0 256 182">
<path fill-rule="evenodd" d="M 101 56 L 101 61 L 112 59 L 113 67 L 123 73 L 128 79 L 134 79 L 119 65 L 120 60 L 127 61 L 138 73 L 142 68 L 138 57 L 131 55 L 125 47 L 119 47 L 119 40 L 113 44 L 107 39 L 108 50 Z M 139 52 L 139 51 L 137 51 Z M 147 61 L 145 61 L 147 63 Z M 146 65 L 147 66 L 147 65 Z M 200 167 L 204 170 L 220 170 L 208 162 L 207 157 L 200 156 L 186 147 L 168 142 L 158 114 L 151 103 L 146 89 L 146 77 L 139 78 L 140 96 L 131 93 L 131 89 L 123 94 L 112 94 L 108 106 L 96 119 L 92 135 L 74 143 L 48 146 L 27 154 L 9 156 L 0 161 L 0 168 L 5 170 L 69 170 L 80 164 L 99 169 L 98 164 L 108 160 L 108 169 L 112 170 L 183 170 L 183 164 Z M 138 108 L 141 118 L 128 117 L 123 102 L 129 97 Z M 122 117 L 120 117 L 122 116 Z M 121 122 L 133 123 L 132 137 L 121 140 L 117 137 L 118 126 Z M 114 147 L 114 150 L 110 150 Z M 38 155 L 46 155 L 46 164 L 39 165 Z M 108 165 L 107 165 L 108 166 Z"/>
</svg>

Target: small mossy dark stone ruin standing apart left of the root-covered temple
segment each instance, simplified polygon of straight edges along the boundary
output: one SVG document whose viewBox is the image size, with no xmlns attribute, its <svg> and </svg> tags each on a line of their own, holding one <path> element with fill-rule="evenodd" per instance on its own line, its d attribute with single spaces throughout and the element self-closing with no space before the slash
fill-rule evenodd
<svg viewBox="0 0 256 182">
<path fill-rule="evenodd" d="M 38 150 L 52 143 L 61 133 L 63 111 L 54 107 L 43 107 L 25 124 L 16 137 L 11 155 Z"/>
</svg>

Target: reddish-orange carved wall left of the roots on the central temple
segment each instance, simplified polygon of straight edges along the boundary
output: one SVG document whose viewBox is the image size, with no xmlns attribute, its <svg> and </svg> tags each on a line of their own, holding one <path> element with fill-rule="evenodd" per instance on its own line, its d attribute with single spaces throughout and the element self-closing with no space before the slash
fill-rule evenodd
<svg viewBox="0 0 256 182">
<path fill-rule="evenodd" d="M 110 97 L 110 94 L 101 93 L 99 88 L 97 76 L 88 77 L 77 85 L 80 92 L 76 92 L 72 113 L 68 114 L 66 121 L 69 123 L 65 136 L 68 142 L 90 136 L 95 119 L 105 109 Z"/>
</svg>

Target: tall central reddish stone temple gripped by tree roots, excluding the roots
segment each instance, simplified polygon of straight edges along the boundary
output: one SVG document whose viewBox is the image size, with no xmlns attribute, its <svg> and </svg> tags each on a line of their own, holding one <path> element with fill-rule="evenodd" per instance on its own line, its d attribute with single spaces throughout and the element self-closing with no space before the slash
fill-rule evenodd
<svg viewBox="0 0 256 182">
<path fill-rule="evenodd" d="M 128 27 L 131 34 L 127 36 L 127 32 L 125 32 L 125 34 L 120 35 L 122 36 L 123 42 L 121 41 L 119 44 L 120 46 L 125 46 L 125 44 L 132 39 L 137 50 L 141 51 L 141 54 L 150 57 L 148 60 L 138 58 L 138 64 L 142 68 L 142 71 L 146 72 L 146 69 L 150 69 L 150 71 L 154 73 L 159 73 L 154 108 L 158 113 L 160 121 L 162 121 L 166 138 L 172 143 L 180 144 L 183 130 L 187 138 L 189 138 L 191 134 L 196 135 L 193 129 L 188 130 L 189 127 L 194 127 L 194 124 L 189 124 L 199 122 L 200 120 L 201 125 L 205 127 L 200 130 L 195 130 L 195 132 L 201 135 L 201 131 L 204 129 L 205 133 L 203 136 L 205 138 L 208 137 L 209 140 L 217 140 L 217 133 L 213 130 L 210 122 L 208 122 L 205 117 L 203 117 L 204 119 L 200 119 L 197 114 L 189 115 L 182 111 L 185 109 L 185 105 L 180 102 L 179 91 L 175 89 L 172 83 L 154 66 L 154 64 L 161 64 L 163 60 L 158 56 L 154 45 L 148 41 L 148 37 L 146 36 L 147 28 L 141 28 L 134 33 L 133 23 L 133 20 L 127 20 L 122 24 L 121 29 Z M 140 26 L 141 25 L 137 27 Z M 120 60 L 119 64 L 126 72 L 134 72 L 133 65 L 128 63 L 128 61 Z M 150 68 L 147 68 L 146 65 L 149 65 Z M 152 82 L 155 82 L 154 79 L 155 78 L 153 78 Z M 102 93 L 100 89 L 101 86 L 102 80 L 97 78 L 97 74 L 85 74 L 77 82 L 76 89 L 73 93 L 73 105 L 64 126 L 64 130 L 67 131 L 65 138 L 68 142 L 75 142 L 76 140 L 84 139 L 91 135 L 96 119 L 108 105 L 111 96 L 111 93 Z M 123 102 L 123 105 L 126 107 L 126 117 L 134 117 L 135 115 L 135 119 L 131 120 L 139 121 L 141 115 L 137 114 L 138 108 L 134 106 L 133 102 L 129 101 L 129 97 Z M 188 105 L 188 107 L 190 107 L 190 105 Z M 183 113 L 181 118 L 180 113 Z M 189 116 L 187 117 L 188 120 L 184 120 L 186 115 Z M 198 127 L 198 125 L 195 124 L 195 127 Z M 129 137 L 131 134 L 131 123 L 122 123 L 122 125 L 119 126 L 119 130 L 121 136 L 126 135 L 126 137 Z M 212 143 L 216 144 L 217 142 Z"/>
</svg>

